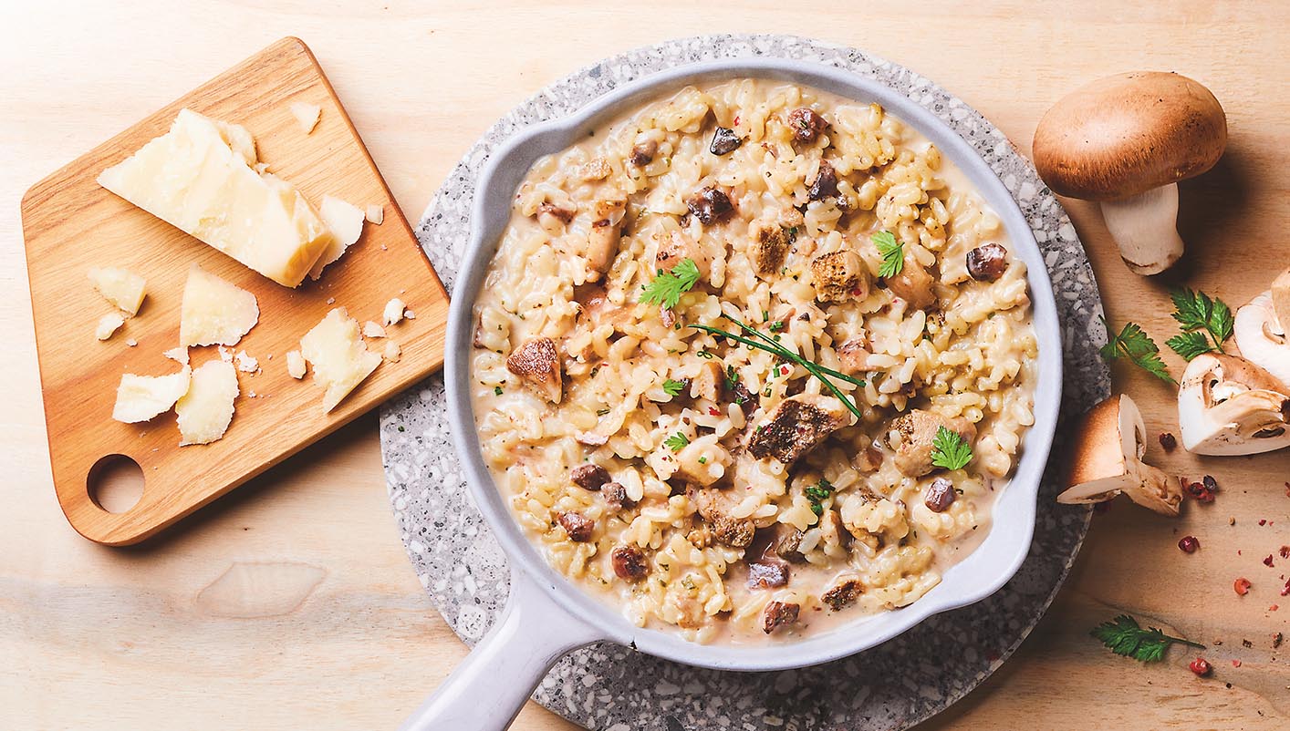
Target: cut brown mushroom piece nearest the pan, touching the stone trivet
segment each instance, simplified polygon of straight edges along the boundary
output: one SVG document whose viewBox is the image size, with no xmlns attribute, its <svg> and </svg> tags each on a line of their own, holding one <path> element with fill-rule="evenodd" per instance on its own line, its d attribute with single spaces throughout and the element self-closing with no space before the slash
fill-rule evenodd
<svg viewBox="0 0 1290 731">
<path fill-rule="evenodd" d="M 1139 505 L 1176 516 L 1182 485 L 1142 460 L 1147 454 L 1147 425 L 1127 396 L 1112 396 L 1094 406 L 1076 431 L 1068 487 L 1058 503 L 1103 503 L 1124 492 Z"/>
</svg>

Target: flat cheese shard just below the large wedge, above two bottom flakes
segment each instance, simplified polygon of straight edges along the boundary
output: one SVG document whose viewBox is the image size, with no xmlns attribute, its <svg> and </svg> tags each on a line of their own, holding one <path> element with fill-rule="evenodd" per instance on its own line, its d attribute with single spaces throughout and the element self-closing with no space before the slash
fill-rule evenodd
<svg viewBox="0 0 1290 731">
<path fill-rule="evenodd" d="M 179 346 L 233 346 L 259 321 L 255 295 L 203 269 L 188 267 L 179 307 Z"/>
</svg>

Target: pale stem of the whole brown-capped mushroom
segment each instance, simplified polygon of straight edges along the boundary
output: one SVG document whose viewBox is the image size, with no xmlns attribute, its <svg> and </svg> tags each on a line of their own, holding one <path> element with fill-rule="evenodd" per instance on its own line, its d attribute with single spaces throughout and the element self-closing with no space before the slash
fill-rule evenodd
<svg viewBox="0 0 1290 731">
<path fill-rule="evenodd" d="M 1102 201 L 1102 218 L 1135 273 L 1158 275 L 1183 255 L 1178 236 L 1178 184 L 1117 201 Z"/>
</svg>

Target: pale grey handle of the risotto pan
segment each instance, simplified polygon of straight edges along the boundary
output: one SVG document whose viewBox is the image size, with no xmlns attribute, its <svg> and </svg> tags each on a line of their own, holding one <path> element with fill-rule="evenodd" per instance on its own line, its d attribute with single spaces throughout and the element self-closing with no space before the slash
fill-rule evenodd
<svg viewBox="0 0 1290 731">
<path fill-rule="evenodd" d="M 533 579 L 511 572 L 502 618 L 400 731 L 503 731 L 547 670 L 604 632 L 559 606 Z"/>
</svg>

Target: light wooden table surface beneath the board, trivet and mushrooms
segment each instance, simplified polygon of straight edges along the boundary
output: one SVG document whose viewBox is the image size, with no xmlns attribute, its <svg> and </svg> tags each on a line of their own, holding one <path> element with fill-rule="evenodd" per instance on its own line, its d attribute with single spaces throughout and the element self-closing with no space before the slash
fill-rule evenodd
<svg viewBox="0 0 1290 731">
<path fill-rule="evenodd" d="M 939 0 L 802 10 L 783 1 L 190 5 L 0 10 L 0 382 L 12 388 L 0 407 L 4 728 L 393 728 L 466 652 L 399 543 L 374 414 L 143 547 L 81 539 L 54 500 L 18 201 L 45 174 L 281 36 L 312 46 L 413 219 L 513 104 L 604 55 L 667 37 L 786 32 L 857 45 L 953 90 L 1022 150 L 1040 115 L 1076 85 L 1179 71 L 1213 89 L 1231 128 L 1219 166 L 1183 186 L 1191 253 L 1180 272 L 1165 281 L 1129 273 L 1096 210 L 1068 206 L 1111 320 L 1134 318 L 1164 342 L 1175 331 L 1167 285 L 1237 306 L 1290 264 L 1285 1 L 980 1 L 969 12 Z M 1180 374 L 1176 357 L 1166 361 Z M 1153 434 L 1175 429 L 1170 387 L 1126 369 L 1115 376 Z M 1278 596 L 1290 560 L 1262 562 L 1290 543 L 1290 455 L 1200 460 L 1152 445 L 1148 458 L 1215 474 L 1218 500 L 1188 504 L 1176 521 L 1121 502 L 1098 514 L 1071 579 L 1017 656 L 922 728 L 1290 725 L 1290 642 L 1272 648 L 1275 632 L 1290 634 L 1290 597 Z M 1187 534 L 1200 538 L 1198 553 L 1175 547 Z M 1244 598 L 1232 590 L 1242 575 L 1253 581 Z M 1222 641 L 1205 652 L 1214 677 L 1193 677 L 1193 655 L 1179 650 L 1152 667 L 1109 655 L 1087 630 L 1121 611 Z M 530 703 L 516 728 L 571 727 Z"/>
</svg>

